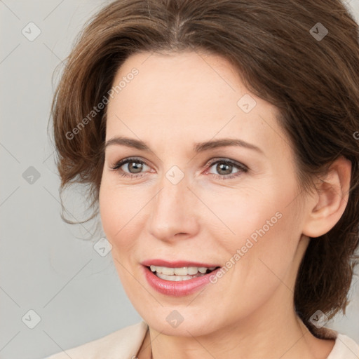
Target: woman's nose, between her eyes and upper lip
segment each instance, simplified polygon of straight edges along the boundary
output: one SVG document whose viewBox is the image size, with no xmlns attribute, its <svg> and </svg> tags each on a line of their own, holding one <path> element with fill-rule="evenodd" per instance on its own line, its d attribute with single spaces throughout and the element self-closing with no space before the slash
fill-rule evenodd
<svg viewBox="0 0 359 359">
<path fill-rule="evenodd" d="M 177 184 L 163 177 L 160 190 L 150 202 L 150 234 L 161 241 L 196 236 L 199 227 L 196 201 L 198 198 L 189 189 L 185 177 Z"/>
</svg>

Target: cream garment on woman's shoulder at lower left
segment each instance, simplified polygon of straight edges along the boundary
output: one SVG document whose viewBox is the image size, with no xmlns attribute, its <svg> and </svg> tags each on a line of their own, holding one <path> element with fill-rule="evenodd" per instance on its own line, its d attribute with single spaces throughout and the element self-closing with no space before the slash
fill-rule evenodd
<svg viewBox="0 0 359 359">
<path fill-rule="evenodd" d="M 135 358 L 140 349 L 148 326 L 143 320 L 140 323 L 124 327 L 116 332 L 88 341 L 61 353 L 50 355 L 45 359 L 121 359 Z"/>
</svg>

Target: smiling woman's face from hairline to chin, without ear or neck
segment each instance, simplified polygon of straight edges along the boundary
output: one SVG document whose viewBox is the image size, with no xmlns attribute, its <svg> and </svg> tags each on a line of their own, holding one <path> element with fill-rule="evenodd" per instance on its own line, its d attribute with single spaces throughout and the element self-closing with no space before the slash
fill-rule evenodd
<svg viewBox="0 0 359 359">
<path fill-rule="evenodd" d="M 307 238 L 299 241 L 303 195 L 276 107 L 222 57 L 195 52 L 133 55 L 118 84 L 106 141 L 130 140 L 106 147 L 100 214 L 140 316 L 158 332 L 195 336 L 290 311 Z M 224 139 L 237 145 L 217 146 Z M 174 281 L 147 269 L 161 266 L 154 259 L 223 268 Z"/>
</svg>

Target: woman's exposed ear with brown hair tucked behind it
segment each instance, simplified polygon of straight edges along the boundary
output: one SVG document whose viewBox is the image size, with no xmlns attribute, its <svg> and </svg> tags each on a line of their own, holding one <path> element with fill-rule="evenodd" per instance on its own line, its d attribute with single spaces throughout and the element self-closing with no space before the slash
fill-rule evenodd
<svg viewBox="0 0 359 359">
<path fill-rule="evenodd" d="M 344 156 L 332 163 L 327 175 L 318 177 L 316 193 L 307 200 L 304 235 L 323 236 L 337 224 L 348 203 L 350 181 L 351 161 Z"/>
</svg>

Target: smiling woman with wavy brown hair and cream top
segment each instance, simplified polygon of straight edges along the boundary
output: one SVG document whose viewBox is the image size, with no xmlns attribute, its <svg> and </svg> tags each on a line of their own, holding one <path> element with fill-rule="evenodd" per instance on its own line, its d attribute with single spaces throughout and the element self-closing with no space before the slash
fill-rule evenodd
<svg viewBox="0 0 359 359">
<path fill-rule="evenodd" d="M 55 93 L 57 166 L 144 320 L 51 359 L 359 358 L 324 327 L 358 258 L 358 34 L 339 0 L 95 15 Z"/>
</svg>

